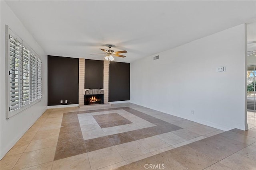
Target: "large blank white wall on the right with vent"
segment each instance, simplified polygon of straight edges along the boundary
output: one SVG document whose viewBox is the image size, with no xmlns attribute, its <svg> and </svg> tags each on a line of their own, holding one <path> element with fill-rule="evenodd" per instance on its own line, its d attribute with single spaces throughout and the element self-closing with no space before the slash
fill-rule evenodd
<svg viewBox="0 0 256 170">
<path fill-rule="evenodd" d="M 130 102 L 218 129 L 246 129 L 246 34 L 246 24 L 238 25 L 131 63 Z"/>
</svg>

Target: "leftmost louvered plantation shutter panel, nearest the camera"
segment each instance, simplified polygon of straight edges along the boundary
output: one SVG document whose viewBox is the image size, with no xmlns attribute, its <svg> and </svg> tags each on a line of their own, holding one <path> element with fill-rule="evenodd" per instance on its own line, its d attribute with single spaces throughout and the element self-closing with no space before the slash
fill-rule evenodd
<svg viewBox="0 0 256 170">
<path fill-rule="evenodd" d="M 20 108 L 20 56 L 22 42 L 10 35 L 10 111 Z"/>
</svg>

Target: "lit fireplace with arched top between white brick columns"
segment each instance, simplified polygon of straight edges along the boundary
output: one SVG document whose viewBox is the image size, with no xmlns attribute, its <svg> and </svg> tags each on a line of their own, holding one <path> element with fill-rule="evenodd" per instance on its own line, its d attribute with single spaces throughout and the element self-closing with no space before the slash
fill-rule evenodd
<svg viewBox="0 0 256 170">
<path fill-rule="evenodd" d="M 104 90 L 90 89 L 85 91 L 84 105 L 104 104 Z"/>
</svg>

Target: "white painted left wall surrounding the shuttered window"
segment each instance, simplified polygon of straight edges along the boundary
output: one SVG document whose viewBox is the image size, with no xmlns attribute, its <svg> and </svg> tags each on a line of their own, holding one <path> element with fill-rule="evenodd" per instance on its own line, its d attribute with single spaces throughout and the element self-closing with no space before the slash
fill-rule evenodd
<svg viewBox="0 0 256 170">
<path fill-rule="evenodd" d="M 47 107 L 47 55 L 33 36 L 14 15 L 6 2 L 0 1 L 0 158 L 22 137 L 29 127 L 42 115 Z M 6 120 L 5 87 L 5 25 L 8 25 L 42 59 L 42 101 Z"/>
</svg>

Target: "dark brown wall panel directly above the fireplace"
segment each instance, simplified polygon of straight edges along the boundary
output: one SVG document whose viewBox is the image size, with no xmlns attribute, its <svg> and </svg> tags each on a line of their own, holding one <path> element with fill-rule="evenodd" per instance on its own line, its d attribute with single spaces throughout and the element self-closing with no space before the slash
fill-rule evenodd
<svg viewBox="0 0 256 170">
<path fill-rule="evenodd" d="M 84 89 L 103 88 L 103 67 L 101 60 L 85 60 Z"/>
</svg>

